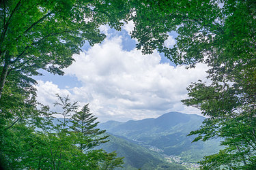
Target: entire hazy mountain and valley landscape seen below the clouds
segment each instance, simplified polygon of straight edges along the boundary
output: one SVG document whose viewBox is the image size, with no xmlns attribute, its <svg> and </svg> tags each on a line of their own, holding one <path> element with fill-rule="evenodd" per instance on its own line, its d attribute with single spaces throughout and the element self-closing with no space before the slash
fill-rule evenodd
<svg viewBox="0 0 256 170">
<path fill-rule="evenodd" d="M 108 143 L 100 147 L 108 152 L 116 150 L 118 156 L 124 156 L 126 169 L 129 166 L 145 169 L 143 166 L 147 167 L 150 163 L 154 169 L 166 163 L 197 169 L 197 161 L 221 149 L 218 139 L 191 143 L 195 136 L 186 136 L 198 129 L 204 119 L 202 116 L 170 112 L 158 118 L 104 122 L 98 127 L 106 129 L 111 137 Z M 135 163 L 135 166 L 135 160 L 141 163 Z"/>
</svg>

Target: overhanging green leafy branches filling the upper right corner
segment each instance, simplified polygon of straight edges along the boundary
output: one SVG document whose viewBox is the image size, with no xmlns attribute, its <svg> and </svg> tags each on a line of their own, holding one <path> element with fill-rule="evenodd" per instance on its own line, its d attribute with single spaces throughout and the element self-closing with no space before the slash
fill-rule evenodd
<svg viewBox="0 0 256 170">
<path fill-rule="evenodd" d="M 255 1 L 143 0 L 133 5 L 132 37 L 145 54 L 158 49 L 174 63 L 192 66 L 208 56 L 215 67 L 251 62 L 255 55 Z M 165 46 L 171 31 L 178 34 L 173 48 Z"/>
</svg>

